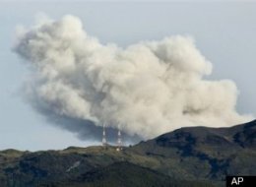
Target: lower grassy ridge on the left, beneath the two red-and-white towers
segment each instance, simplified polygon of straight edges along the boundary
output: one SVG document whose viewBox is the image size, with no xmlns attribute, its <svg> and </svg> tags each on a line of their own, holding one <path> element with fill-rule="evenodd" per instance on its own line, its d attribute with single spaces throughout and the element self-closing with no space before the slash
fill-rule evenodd
<svg viewBox="0 0 256 187">
<path fill-rule="evenodd" d="M 37 152 L 19 156 L 19 159 L 11 158 L 10 162 L 0 168 L 9 178 L 7 182 L 2 182 L 1 186 L 33 187 L 52 184 L 53 186 L 114 187 L 119 186 L 120 183 L 121 186 L 125 186 L 127 183 L 127 186 L 131 184 L 143 187 L 149 184 L 153 186 L 188 184 L 185 180 L 176 181 L 150 169 L 160 166 L 160 161 L 155 157 L 136 155 L 128 150 L 116 152 L 113 147 L 107 150 L 101 147 L 70 148 L 64 151 Z M 78 162 L 79 165 L 72 168 Z M 87 178 L 92 180 L 88 181 Z M 106 183 L 109 185 L 103 185 Z M 196 181 L 189 184 L 201 185 Z"/>
</svg>

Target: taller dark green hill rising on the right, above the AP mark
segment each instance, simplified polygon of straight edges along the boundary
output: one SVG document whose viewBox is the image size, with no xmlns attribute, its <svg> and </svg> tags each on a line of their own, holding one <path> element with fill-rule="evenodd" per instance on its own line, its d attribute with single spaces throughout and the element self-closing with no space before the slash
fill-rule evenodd
<svg viewBox="0 0 256 187">
<path fill-rule="evenodd" d="M 155 169 L 170 176 L 224 180 L 256 174 L 256 121 L 230 128 L 192 127 L 140 143 L 131 150 L 164 162 Z"/>
</svg>

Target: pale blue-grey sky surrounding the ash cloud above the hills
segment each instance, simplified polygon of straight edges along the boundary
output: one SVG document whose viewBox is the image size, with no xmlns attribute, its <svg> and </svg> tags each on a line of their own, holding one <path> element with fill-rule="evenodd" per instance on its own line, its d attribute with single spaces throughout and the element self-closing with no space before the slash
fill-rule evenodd
<svg viewBox="0 0 256 187">
<path fill-rule="evenodd" d="M 184 34 L 214 66 L 211 80 L 231 79 L 239 90 L 237 110 L 256 115 L 256 3 L 254 2 L 45 2 L 0 1 L 0 150 L 49 150 L 96 144 L 55 127 L 21 97 L 28 67 L 12 51 L 17 26 L 38 15 L 79 17 L 100 42 L 125 47 L 141 40 Z"/>
</svg>

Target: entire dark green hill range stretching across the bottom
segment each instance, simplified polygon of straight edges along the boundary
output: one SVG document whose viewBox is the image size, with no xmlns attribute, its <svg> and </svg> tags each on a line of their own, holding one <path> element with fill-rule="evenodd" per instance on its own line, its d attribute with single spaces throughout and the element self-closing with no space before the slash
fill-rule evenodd
<svg viewBox="0 0 256 187">
<path fill-rule="evenodd" d="M 181 128 L 121 152 L 0 152 L 1 187 L 206 187 L 224 186 L 225 175 L 256 175 L 256 121 Z"/>
</svg>

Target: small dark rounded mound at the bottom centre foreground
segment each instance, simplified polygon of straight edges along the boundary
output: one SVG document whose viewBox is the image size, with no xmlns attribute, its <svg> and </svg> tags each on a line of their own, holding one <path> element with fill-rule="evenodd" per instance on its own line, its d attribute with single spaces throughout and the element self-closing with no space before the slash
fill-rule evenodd
<svg viewBox="0 0 256 187">
<path fill-rule="evenodd" d="M 176 180 L 147 167 L 130 162 L 115 162 L 82 175 L 76 182 L 59 183 L 58 186 L 105 186 L 105 187 L 211 187 L 212 185 Z"/>
</svg>

